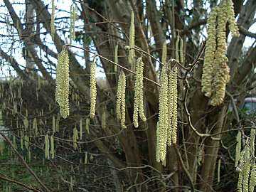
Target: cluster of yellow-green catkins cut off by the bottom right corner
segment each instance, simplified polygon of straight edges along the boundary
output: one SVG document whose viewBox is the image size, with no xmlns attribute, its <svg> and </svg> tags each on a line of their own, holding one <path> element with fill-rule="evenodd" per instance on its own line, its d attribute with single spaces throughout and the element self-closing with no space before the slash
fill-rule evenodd
<svg viewBox="0 0 256 192">
<path fill-rule="evenodd" d="M 239 171 L 238 192 L 253 192 L 256 186 L 255 129 L 251 129 L 250 144 L 248 141 L 241 151 L 241 132 L 238 132 L 235 149 L 235 167 Z"/>
</svg>

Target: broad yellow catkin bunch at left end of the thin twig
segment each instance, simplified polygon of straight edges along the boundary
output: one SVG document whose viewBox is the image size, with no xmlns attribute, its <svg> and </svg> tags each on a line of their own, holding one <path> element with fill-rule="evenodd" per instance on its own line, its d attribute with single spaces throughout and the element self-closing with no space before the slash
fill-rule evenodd
<svg viewBox="0 0 256 192">
<path fill-rule="evenodd" d="M 60 106 L 60 115 L 63 118 L 69 115 L 69 58 L 68 49 L 63 50 L 58 54 L 58 65 L 56 72 L 56 92 L 55 99 Z"/>
</svg>

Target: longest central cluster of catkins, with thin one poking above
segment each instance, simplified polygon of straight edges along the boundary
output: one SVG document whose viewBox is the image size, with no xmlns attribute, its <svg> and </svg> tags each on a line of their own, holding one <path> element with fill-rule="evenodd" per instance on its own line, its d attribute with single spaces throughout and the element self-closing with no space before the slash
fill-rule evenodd
<svg viewBox="0 0 256 192">
<path fill-rule="evenodd" d="M 163 46 L 161 89 L 159 92 L 159 122 L 156 127 L 156 161 L 164 162 L 166 147 L 176 143 L 177 129 L 177 75 L 176 65 L 170 71 L 166 64 L 166 43 Z"/>
</svg>

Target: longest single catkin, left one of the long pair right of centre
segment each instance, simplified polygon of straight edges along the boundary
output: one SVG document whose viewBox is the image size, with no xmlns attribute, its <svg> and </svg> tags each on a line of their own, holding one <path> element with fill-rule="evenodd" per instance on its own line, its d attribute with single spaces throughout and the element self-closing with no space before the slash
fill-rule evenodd
<svg viewBox="0 0 256 192">
<path fill-rule="evenodd" d="M 168 130 L 168 75 L 166 73 L 167 66 L 161 70 L 161 88 L 159 92 L 159 122 L 156 127 L 156 161 L 164 161 L 166 159 L 166 142 Z M 167 102 L 166 102 L 167 100 Z"/>
</svg>

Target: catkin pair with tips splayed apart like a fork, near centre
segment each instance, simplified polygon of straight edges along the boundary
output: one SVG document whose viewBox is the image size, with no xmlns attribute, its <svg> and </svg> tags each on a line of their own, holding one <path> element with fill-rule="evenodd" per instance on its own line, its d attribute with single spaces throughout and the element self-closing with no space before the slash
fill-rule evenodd
<svg viewBox="0 0 256 192">
<path fill-rule="evenodd" d="M 134 92 L 134 114 L 133 122 L 134 127 L 139 127 L 138 114 L 142 121 L 146 122 L 146 116 L 144 114 L 144 101 L 143 101 L 143 69 L 144 63 L 142 57 L 137 59 L 136 62 L 136 79 L 135 79 L 135 92 Z"/>
</svg>

